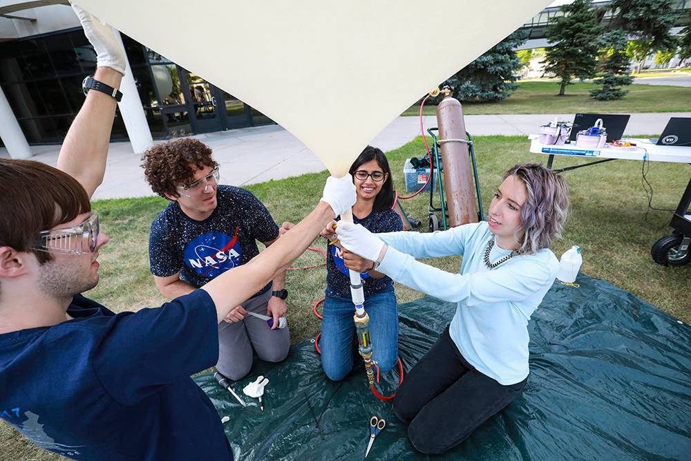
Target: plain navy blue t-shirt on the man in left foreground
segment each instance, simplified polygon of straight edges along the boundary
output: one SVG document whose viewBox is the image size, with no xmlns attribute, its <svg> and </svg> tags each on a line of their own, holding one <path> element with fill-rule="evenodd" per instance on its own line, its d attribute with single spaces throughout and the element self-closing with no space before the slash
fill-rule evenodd
<svg viewBox="0 0 691 461">
<path fill-rule="evenodd" d="M 120 314 L 77 296 L 67 312 L 55 326 L 0 335 L 3 420 L 75 460 L 233 458 L 189 377 L 218 360 L 207 292 Z"/>
</svg>

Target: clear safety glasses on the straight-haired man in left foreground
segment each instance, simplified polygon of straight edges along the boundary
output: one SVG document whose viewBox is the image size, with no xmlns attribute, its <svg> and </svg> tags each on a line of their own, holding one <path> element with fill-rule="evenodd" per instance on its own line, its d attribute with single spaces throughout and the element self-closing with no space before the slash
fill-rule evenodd
<svg viewBox="0 0 691 461">
<path fill-rule="evenodd" d="M 93 253 L 96 250 L 99 232 L 98 214 L 91 211 L 88 218 L 75 227 L 41 231 L 33 248 L 48 253 Z"/>
</svg>

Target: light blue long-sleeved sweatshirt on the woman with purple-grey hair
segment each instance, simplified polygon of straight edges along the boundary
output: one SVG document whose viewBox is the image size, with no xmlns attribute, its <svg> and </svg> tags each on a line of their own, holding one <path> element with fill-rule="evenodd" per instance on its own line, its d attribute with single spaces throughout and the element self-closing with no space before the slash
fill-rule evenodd
<svg viewBox="0 0 691 461">
<path fill-rule="evenodd" d="M 485 221 L 444 232 L 377 234 L 389 247 L 377 268 L 399 283 L 457 303 L 451 339 L 469 364 L 508 386 L 528 376 L 528 321 L 559 270 L 551 250 L 514 256 L 490 270 L 484 252 L 492 234 Z M 510 254 L 494 245 L 490 261 Z M 460 274 L 415 258 L 463 256 Z"/>
</svg>

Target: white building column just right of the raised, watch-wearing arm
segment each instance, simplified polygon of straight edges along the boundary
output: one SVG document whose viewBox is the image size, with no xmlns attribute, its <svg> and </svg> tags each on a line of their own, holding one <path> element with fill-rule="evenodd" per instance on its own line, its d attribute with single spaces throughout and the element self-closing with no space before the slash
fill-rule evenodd
<svg viewBox="0 0 691 461">
<path fill-rule="evenodd" d="M 127 59 L 125 47 L 122 44 L 122 37 L 120 37 L 120 32 L 117 32 L 117 30 L 113 29 L 113 32 L 115 32 L 117 41 L 120 41 L 120 48 L 122 48 L 122 53 L 125 55 L 127 64 L 125 75 L 122 77 L 122 82 L 120 83 L 122 101 L 118 102 L 117 106 L 120 107 L 122 121 L 125 123 L 127 135 L 132 144 L 132 150 L 135 153 L 143 153 L 146 149 L 151 147 L 153 138 L 151 138 L 149 124 L 146 123 L 146 115 L 144 115 L 144 109 L 142 109 L 142 100 L 140 100 L 137 85 L 134 82 L 132 69 L 129 66 L 129 59 Z"/>
</svg>

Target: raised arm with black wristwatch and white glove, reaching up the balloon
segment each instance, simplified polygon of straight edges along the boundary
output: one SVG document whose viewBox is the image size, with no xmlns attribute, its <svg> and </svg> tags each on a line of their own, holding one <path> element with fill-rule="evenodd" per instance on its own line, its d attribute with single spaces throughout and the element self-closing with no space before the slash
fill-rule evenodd
<svg viewBox="0 0 691 461">
<path fill-rule="evenodd" d="M 84 35 L 97 56 L 94 78 L 113 88 L 120 88 L 125 58 L 110 26 L 79 6 L 73 6 L 84 28 Z M 75 178 L 89 198 L 103 181 L 108 143 L 115 117 L 115 99 L 100 91 L 89 91 L 65 137 L 57 158 L 57 168 Z"/>
</svg>

